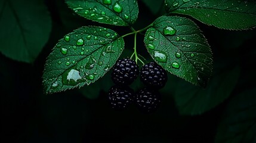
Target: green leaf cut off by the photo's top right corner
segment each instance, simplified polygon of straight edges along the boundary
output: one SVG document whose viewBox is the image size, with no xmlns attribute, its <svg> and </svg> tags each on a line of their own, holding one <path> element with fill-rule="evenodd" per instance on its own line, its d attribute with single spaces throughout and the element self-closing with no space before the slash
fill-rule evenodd
<svg viewBox="0 0 256 143">
<path fill-rule="evenodd" d="M 256 2 L 238 0 L 165 0 L 169 14 L 186 14 L 221 29 L 251 29 L 256 26 Z"/>
</svg>

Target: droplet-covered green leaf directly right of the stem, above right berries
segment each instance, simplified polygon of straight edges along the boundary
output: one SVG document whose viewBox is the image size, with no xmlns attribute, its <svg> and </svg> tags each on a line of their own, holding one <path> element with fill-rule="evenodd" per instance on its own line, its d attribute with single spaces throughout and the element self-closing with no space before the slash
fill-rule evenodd
<svg viewBox="0 0 256 143">
<path fill-rule="evenodd" d="M 184 17 L 157 18 L 144 43 L 165 70 L 195 85 L 205 86 L 212 73 L 212 52 L 193 21 Z"/>
</svg>

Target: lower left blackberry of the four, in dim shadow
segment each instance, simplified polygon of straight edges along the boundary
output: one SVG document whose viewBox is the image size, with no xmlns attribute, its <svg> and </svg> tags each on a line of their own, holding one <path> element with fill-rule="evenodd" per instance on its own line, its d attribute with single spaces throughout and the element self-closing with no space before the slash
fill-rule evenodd
<svg viewBox="0 0 256 143">
<path fill-rule="evenodd" d="M 110 102 L 110 107 L 115 110 L 124 110 L 134 100 L 134 91 L 128 86 L 112 86 L 109 89 L 107 99 Z"/>
</svg>

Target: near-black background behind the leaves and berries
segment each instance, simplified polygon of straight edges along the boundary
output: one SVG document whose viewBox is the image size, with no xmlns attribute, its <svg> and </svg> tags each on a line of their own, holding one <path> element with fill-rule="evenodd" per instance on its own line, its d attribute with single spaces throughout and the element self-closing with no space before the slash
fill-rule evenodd
<svg viewBox="0 0 256 143">
<path fill-rule="evenodd" d="M 172 97 L 162 94 L 161 107 L 152 114 L 142 114 L 134 106 L 125 111 L 113 111 L 106 100 L 106 91 L 88 98 L 78 89 L 44 95 L 42 71 L 47 56 L 57 43 L 81 26 L 98 25 L 115 30 L 119 35 L 130 32 L 127 27 L 115 27 L 85 20 L 60 0 L 46 1 L 53 20 L 53 30 L 35 63 L 10 60 L 0 54 L 1 79 L 1 141 L 3 142 L 214 142 L 218 123 L 230 98 L 255 88 L 255 29 L 230 31 L 195 21 L 208 39 L 214 53 L 214 63 L 238 65 L 240 77 L 227 100 L 201 115 L 182 116 Z M 134 24 L 141 29 L 161 13 L 152 14 L 138 1 L 140 13 Z M 138 36 L 139 53 L 146 54 L 143 36 Z M 125 38 L 125 48 L 132 49 L 134 37 Z M 125 56 L 125 55 L 123 55 Z M 169 74 L 169 79 L 175 79 Z M 104 80 L 110 80 L 105 78 Z M 170 81 L 172 82 L 172 81 Z M 175 83 L 174 83 L 175 84 Z M 111 85 L 106 85 L 110 87 Z M 251 93 L 255 94 L 255 93 Z M 256 102 L 256 101 L 255 101 Z"/>
</svg>

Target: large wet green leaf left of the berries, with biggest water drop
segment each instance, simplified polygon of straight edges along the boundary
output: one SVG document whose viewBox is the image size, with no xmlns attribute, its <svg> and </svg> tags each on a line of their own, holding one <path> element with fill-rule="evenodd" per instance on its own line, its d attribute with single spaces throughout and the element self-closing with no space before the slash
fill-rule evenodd
<svg viewBox="0 0 256 143">
<path fill-rule="evenodd" d="M 124 39 L 103 27 L 81 27 L 64 36 L 48 56 L 43 74 L 46 93 L 90 85 L 115 64 Z"/>
</svg>

